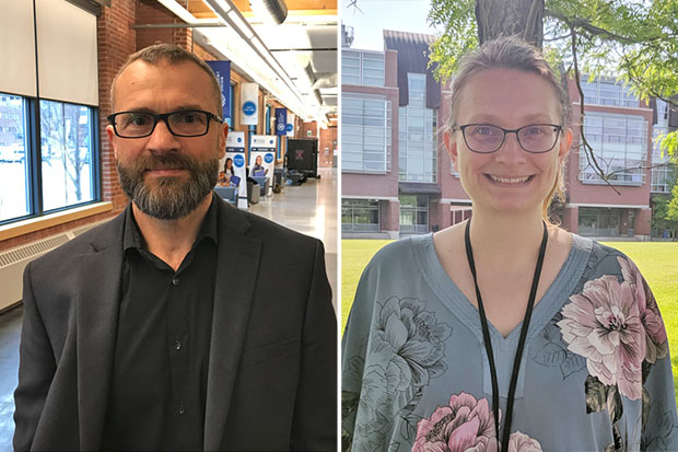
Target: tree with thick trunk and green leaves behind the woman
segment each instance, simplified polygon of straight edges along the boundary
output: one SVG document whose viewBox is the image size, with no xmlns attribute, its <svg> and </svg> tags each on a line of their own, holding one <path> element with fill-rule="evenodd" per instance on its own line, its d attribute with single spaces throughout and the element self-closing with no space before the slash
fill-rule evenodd
<svg viewBox="0 0 678 452">
<path fill-rule="evenodd" d="M 448 79 L 459 58 L 500 35 L 521 35 L 542 48 L 573 77 L 616 73 L 640 98 L 658 97 L 678 109 L 678 1 L 676 0 L 432 0 L 430 23 L 443 30 L 431 48 L 440 79 Z M 582 102 L 581 112 L 584 107 Z M 582 121 L 583 123 L 583 121 Z M 582 147 L 604 179 L 581 125 Z M 678 131 L 662 146 L 678 154 Z"/>
</svg>

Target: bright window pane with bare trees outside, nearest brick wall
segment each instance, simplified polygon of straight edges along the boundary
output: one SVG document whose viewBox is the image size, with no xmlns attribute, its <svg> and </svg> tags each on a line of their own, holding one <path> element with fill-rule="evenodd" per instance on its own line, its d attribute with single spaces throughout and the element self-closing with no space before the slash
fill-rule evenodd
<svg viewBox="0 0 678 452">
<path fill-rule="evenodd" d="M 94 199 L 92 108 L 40 101 L 43 209 Z"/>
</svg>

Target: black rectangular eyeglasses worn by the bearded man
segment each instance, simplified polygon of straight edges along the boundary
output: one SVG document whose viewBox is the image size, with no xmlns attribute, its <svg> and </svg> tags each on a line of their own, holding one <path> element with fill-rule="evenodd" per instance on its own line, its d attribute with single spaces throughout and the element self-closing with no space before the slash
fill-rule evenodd
<svg viewBox="0 0 678 452">
<path fill-rule="evenodd" d="M 210 121 L 223 123 L 219 116 L 201 109 L 155 115 L 145 112 L 119 112 L 107 116 L 115 135 L 120 138 L 144 138 L 155 130 L 159 120 L 164 120 L 167 130 L 176 137 L 201 137 L 210 129 Z"/>
</svg>

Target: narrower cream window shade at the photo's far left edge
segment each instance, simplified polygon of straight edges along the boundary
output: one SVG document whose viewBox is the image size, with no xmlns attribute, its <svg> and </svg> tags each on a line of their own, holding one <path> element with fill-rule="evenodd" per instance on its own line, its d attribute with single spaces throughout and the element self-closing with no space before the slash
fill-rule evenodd
<svg viewBox="0 0 678 452">
<path fill-rule="evenodd" d="M 0 92 L 36 95 L 32 1 L 0 1 Z"/>
</svg>

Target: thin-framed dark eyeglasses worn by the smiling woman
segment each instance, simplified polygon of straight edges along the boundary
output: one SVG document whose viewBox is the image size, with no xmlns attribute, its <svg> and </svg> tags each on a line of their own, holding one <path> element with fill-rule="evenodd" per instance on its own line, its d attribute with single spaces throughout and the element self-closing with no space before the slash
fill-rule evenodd
<svg viewBox="0 0 678 452">
<path fill-rule="evenodd" d="M 453 126 L 461 130 L 466 147 L 478 153 L 491 153 L 499 150 L 506 140 L 506 134 L 515 134 L 518 144 L 535 154 L 549 152 L 556 147 L 563 127 L 556 124 L 529 124 L 518 129 L 504 129 L 491 124 L 466 124 Z"/>
</svg>

